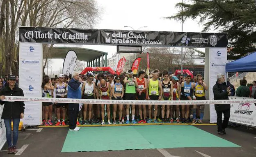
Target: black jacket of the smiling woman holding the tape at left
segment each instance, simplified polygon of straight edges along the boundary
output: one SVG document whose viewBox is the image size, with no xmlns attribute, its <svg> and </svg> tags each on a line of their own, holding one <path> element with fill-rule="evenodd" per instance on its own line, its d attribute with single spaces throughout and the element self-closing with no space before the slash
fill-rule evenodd
<svg viewBox="0 0 256 157">
<path fill-rule="evenodd" d="M 9 86 L 6 86 L 5 88 L 2 88 L 0 95 L 24 96 L 23 90 L 18 88 L 18 86 L 14 86 L 13 89 L 11 89 Z M 24 102 L 6 102 L 0 100 L 0 104 L 5 104 L 2 112 L 2 119 L 21 118 L 21 113 L 24 113 Z"/>
</svg>

